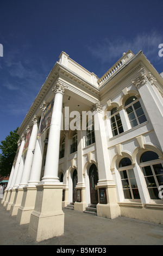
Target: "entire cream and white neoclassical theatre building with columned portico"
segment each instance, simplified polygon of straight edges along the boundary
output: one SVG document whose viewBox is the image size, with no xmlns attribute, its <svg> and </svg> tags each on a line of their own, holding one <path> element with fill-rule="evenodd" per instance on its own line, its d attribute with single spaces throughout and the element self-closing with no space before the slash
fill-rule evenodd
<svg viewBox="0 0 163 256">
<path fill-rule="evenodd" d="M 130 50 L 101 78 L 61 52 L 24 118 L 2 200 L 37 241 L 63 208 L 163 224 L 163 80 Z"/>
</svg>

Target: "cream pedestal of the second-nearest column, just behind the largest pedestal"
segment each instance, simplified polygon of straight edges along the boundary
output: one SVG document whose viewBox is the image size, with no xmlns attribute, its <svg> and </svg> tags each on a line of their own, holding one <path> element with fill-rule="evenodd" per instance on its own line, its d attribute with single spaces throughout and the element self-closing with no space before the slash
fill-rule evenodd
<svg viewBox="0 0 163 256">
<path fill-rule="evenodd" d="M 17 212 L 18 224 L 28 224 L 30 222 L 30 215 L 35 207 L 36 187 L 23 187 L 23 197 L 20 207 Z"/>
</svg>

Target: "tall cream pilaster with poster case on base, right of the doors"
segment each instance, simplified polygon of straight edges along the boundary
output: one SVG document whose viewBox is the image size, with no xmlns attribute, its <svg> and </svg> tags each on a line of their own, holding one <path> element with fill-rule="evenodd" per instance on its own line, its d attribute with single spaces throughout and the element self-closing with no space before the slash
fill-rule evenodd
<svg viewBox="0 0 163 256">
<path fill-rule="evenodd" d="M 98 204 L 97 216 L 116 218 L 120 215 L 120 208 L 117 204 L 116 185 L 112 179 L 110 170 L 110 157 L 106 141 L 106 131 L 102 115 L 102 106 L 96 105 L 94 110 L 95 119 L 95 140 L 98 162 Z M 104 194 L 105 202 L 102 202 L 101 195 Z"/>
</svg>

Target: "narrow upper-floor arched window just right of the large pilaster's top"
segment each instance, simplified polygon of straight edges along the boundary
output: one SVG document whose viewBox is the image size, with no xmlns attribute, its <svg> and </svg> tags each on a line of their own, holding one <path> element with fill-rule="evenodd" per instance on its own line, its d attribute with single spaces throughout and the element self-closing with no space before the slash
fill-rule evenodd
<svg viewBox="0 0 163 256">
<path fill-rule="evenodd" d="M 112 136 L 116 136 L 121 132 L 123 132 L 120 113 L 118 112 L 116 107 L 111 109 L 110 123 L 111 123 Z"/>
</svg>

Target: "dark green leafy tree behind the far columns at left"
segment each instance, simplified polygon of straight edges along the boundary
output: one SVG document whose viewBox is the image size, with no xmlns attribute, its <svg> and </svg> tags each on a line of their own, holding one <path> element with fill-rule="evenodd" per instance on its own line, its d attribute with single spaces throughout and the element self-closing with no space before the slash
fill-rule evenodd
<svg viewBox="0 0 163 256">
<path fill-rule="evenodd" d="M 5 138 L 5 141 L 1 141 L 0 149 L 2 153 L 0 154 L 0 175 L 7 176 L 11 172 L 12 164 L 14 162 L 16 150 L 17 150 L 17 141 L 18 141 L 18 127 L 10 135 Z"/>
</svg>

